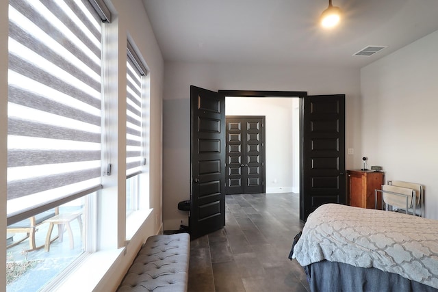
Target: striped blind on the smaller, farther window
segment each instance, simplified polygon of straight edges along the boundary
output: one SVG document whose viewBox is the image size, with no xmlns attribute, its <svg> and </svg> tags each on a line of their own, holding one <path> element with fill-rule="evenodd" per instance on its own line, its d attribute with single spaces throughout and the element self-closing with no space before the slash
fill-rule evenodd
<svg viewBox="0 0 438 292">
<path fill-rule="evenodd" d="M 132 49 L 127 49 L 127 178 L 141 172 L 142 75 Z"/>
</svg>

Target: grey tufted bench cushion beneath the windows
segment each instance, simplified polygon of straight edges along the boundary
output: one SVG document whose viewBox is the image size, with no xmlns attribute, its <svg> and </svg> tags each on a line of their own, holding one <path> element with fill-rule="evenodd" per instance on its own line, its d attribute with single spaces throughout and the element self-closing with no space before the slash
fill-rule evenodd
<svg viewBox="0 0 438 292">
<path fill-rule="evenodd" d="M 188 233 L 151 236 L 117 291 L 187 291 L 189 256 Z"/>
</svg>

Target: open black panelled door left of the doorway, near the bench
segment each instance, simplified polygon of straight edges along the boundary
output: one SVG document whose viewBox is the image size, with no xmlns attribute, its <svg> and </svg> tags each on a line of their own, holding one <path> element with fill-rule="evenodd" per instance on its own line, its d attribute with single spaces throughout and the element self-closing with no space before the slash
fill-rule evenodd
<svg viewBox="0 0 438 292">
<path fill-rule="evenodd" d="M 192 239 L 225 226 L 225 96 L 190 86 Z"/>
</svg>

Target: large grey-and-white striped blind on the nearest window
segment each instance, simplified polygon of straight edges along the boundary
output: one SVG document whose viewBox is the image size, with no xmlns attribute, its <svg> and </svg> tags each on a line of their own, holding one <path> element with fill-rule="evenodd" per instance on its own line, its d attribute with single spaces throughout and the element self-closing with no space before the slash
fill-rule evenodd
<svg viewBox="0 0 438 292">
<path fill-rule="evenodd" d="M 8 224 L 101 187 L 101 18 L 10 0 Z"/>
</svg>

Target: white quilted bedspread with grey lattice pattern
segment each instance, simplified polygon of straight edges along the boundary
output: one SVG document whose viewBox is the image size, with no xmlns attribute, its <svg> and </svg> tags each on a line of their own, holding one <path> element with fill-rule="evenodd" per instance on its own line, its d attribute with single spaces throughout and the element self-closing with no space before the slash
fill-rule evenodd
<svg viewBox="0 0 438 292">
<path fill-rule="evenodd" d="M 438 289 L 438 220 L 324 204 L 309 215 L 292 257 L 303 267 L 375 267 Z"/>
</svg>

